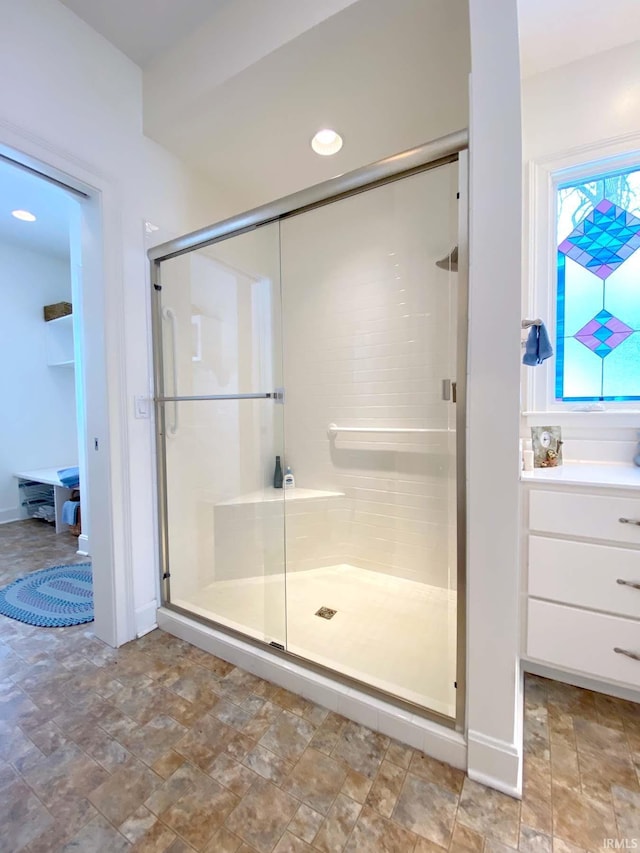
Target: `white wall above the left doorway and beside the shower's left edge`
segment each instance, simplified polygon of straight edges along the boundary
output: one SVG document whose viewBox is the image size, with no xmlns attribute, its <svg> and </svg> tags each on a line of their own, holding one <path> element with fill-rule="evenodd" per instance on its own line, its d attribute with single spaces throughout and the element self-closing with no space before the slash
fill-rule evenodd
<svg viewBox="0 0 640 853">
<path fill-rule="evenodd" d="M 142 135 L 141 72 L 130 60 L 57 0 L 0 0 L 0 15 L 0 73 L 11 80 L 0 92 L 0 144 L 100 193 L 85 216 L 100 213 L 103 228 L 102 239 L 85 232 L 98 258 L 84 270 L 83 295 L 94 371 L 87 429 L 91 448 L 94 437 L 100 446 L 88 457 L 91 548 L 96 631 L 121 643 L 153 625 L 157 605 L 152 424 L 133 418 L 134 395 L 150 391 L 143 220 L 173 235 L 220 218 L 227 207 L 206 179 Z"/>
</svg>

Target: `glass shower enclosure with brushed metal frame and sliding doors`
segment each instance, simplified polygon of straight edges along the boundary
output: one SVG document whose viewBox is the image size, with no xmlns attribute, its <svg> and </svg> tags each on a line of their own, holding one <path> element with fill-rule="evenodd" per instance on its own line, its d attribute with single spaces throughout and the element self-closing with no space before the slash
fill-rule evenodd
<svg viewBox="0 0 640 853">
<path fill-rule="evenodd" d="M 458 726 L 465 148 L 149 253 L 163 605 Z"/>
</svg>

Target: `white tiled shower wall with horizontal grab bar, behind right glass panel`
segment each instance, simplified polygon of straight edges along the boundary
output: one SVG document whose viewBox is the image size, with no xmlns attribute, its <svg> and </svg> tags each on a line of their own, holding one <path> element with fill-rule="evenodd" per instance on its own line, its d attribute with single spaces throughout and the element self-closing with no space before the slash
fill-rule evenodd
<svg viewBox="0 0 640 853">
<path fill-rule="evenodd" d="M 457 241 L 456 190 L 451 164 L 281 224 L 286 464 L 297 485 L 344 494 L 318 520 L 338 562 L 441 587 L 455 578 L 455 434 L 327 429 L 455 426 L 442 380 L 457 276 L 435 261 Z M 289 527 L 287 553 L 305 549 Z"/>
</svg>

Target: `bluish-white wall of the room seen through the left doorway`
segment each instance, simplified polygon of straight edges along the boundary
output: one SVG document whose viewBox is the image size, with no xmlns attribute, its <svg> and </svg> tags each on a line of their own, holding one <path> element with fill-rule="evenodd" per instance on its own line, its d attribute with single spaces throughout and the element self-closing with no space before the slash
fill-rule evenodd
<svg viewBox="0 0 640 853">
<path fill-rule="evenodd" d="M 78 461 L 73 368 L 47 364 L 42 309 L 62 301 L 68 261 L 0 243 L 0 521 L 20 517 L 15 472 Z"/>
</svg>

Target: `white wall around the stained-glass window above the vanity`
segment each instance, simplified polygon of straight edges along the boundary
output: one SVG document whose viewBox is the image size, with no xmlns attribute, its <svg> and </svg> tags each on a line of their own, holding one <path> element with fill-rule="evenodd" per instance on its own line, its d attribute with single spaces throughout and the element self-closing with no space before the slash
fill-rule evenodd
<svg viewBox="0 0 640 853">
<path fill-rule="evenodd" d="M 555 282 L 549 282 L 548 235 L 553 227 L 549 175 L 553 169 L 639 152 L 640 42 L 554 68 L 522 83 L 523 159 L 525 185 L 523 314 L 552 316 Z M 597 115 L 594 104 L 598 105 Z M 548 296 L 547 296 L 548 294 Z M 523 403 L 533 408 L 529 384 L 546 385 L 554 359 L 539 368 L 523 368 Z M 535 371 L 535 372 L 534 372 Z M 540 396 L 536 391 L 536 401 Z M 569 460 L 629 462 L 635 452 L 637 418 L 600 413 L 553 412 L 531 416 L 522 434 L 542 421 L 559 423 Z"/>
</svg>

